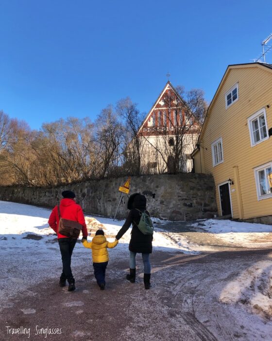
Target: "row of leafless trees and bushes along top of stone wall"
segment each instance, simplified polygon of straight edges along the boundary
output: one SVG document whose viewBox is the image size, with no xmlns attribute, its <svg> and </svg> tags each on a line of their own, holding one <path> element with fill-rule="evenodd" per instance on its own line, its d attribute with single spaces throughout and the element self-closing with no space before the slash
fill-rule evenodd
<svg viewBox="0 0 272 341">
<path fill-rule="evenodd" d="M 204 93 L 177 87 L 165 93 L 164 102 L 156 134 L 149 129 L 143 134 L 143 114 L 129 97 L 115 109 L 103 109 L 94 124 L 69 117 L 45 123 L 40 131 L 0 111 L 0 185 L 52 186 L 182 170 L 204 120 Z"/>
</svg>

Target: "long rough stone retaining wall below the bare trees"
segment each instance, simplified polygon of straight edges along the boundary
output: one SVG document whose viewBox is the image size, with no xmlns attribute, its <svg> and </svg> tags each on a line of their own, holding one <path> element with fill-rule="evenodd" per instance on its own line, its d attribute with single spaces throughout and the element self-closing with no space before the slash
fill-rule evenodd
<svg viewBox="0 0 272 341">
<path fill-rule="evenodd" d="M 108 217 L 115 215 L 121 192 L 118 191 L 127 177 L 92 180 L 55 188 L 0 187 L 0 200 L 54 207 L 65 189 L 76 193 L 76 201 L 86 213 Z M 180 173 L 158 174 L 131 178 L 130 193 L 141 192 L 147 198 L 147 208 L 153 217 L 167 220 L 195 220 L 217 214 L 215 185 L 211 175 Z M 117 218 L 127 215 L 124 194 Z"/>
</svg>

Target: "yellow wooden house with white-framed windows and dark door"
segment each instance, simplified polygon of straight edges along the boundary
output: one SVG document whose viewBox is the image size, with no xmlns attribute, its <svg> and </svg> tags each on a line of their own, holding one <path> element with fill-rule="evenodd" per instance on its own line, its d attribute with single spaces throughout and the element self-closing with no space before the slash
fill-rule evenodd
<svg viewBox="0 0 272 341">
<path fill-rule="evenodd" d="M 192 153 L 211 173 L 219 215 L 272 224 L 272 65 L 229 65 Z"/>
</svg>

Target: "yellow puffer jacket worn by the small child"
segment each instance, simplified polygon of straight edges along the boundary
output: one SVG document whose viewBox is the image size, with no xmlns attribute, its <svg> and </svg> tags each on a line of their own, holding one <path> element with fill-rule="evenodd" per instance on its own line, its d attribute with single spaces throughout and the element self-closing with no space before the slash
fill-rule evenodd
<svg viewBox="0 0 272 341">
<path fill-rule="evenodd" d="M 102 234 L 93 237 L 91 242 L 83 241 L 83 245 L 86 248 L 92 249 L 93 254 L 93 263 L 102 263 L 107 262 L 109 260 L 108 248 L 113 248 L 117 246 L 118 240 L 113 243 L 110 243 L 106 240 L 106 237 Z"/>
</svg>

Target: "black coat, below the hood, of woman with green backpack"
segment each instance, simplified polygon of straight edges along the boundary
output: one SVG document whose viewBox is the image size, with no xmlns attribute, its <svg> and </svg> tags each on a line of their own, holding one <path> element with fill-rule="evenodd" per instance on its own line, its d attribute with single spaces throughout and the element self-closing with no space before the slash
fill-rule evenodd
<svg viewBox="0 0 272 341">
<path fill-rule="evenodd" d="M 144 211 L 142 209 L 141 211 Z M 149 212 L 146 211 L 148 215 Z M 131 239 L 129 243 L 129 250 L 138 253 L 152 253 L 152 240 L 151 234 L 143 234 L 137 227 L 140 221 L 140 212 L 133 208 L 129 211 L 124 225 L 121 227 L 116 235 L 116 239 L 120 239 L 122 235 L 129 229 L 132 224 Z"/>
</svg>

